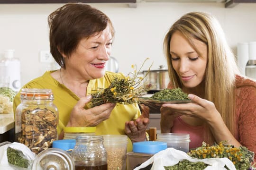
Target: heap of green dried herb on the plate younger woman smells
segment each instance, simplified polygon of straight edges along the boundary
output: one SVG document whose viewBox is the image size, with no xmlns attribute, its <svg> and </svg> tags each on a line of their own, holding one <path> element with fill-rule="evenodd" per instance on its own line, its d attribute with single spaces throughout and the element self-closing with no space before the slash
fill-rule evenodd
<svg viewBox="0 0 256 170">
<path fill-rule="evenodd" d="M 188 94 L 184 93 L 181 88 L 164 89 L 156 92 L 151 99 L 154 100 L 190 100 Z"/>
</svg>

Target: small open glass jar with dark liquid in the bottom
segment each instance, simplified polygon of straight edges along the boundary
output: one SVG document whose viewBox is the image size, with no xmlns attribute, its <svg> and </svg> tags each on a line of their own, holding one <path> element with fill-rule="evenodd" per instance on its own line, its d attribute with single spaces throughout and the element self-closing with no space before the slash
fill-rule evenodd
<svg viewBox="0 0 256 170">
<path fill-rule="evenodd" d="M 77 136 L 72 157 L 75 170 L 108 170 L 103 136 Z"/>
</svg>

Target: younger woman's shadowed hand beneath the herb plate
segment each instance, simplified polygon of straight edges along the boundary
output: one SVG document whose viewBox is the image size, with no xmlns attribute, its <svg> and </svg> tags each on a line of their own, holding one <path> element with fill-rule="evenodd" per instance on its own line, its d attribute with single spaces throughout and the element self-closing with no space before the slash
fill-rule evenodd
<svg viewBox="0 0 256 170">
<path fill-rule="evenodd" d="M 161 133 L 171 133 L 171 128 L 174 126 L 174 119 L 179 117 L 181 114 L 174 112 L 170 108 L 161 107 Z"/>
</svg>

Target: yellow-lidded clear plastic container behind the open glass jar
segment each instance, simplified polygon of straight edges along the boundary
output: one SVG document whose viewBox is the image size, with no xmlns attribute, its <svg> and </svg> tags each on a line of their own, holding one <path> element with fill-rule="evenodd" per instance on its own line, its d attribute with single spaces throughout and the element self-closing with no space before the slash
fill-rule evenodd
<svg viewBox="0 0 256 170">
<path fill-rule="evenodd" d="M 95 135 L 96 127 L 64 127 L 64 139 L 76 139 L 76 136 Z"/>
</svg>

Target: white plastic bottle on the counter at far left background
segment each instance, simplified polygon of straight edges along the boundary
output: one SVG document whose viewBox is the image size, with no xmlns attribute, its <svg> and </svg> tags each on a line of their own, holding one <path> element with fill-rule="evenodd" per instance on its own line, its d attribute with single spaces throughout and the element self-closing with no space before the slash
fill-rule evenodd
<svg viewBox="0 0 256 170">
<path fill-rule="evenodd" d="M 14 58 L 14 50 L 6 50 L 0 63 L 5 67 L 4 76 L 9 77 L 9 88 L 18 92 L 20 89 L 20 61 Z"/>
</svg>

